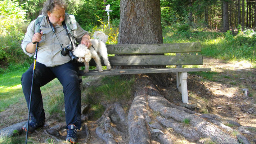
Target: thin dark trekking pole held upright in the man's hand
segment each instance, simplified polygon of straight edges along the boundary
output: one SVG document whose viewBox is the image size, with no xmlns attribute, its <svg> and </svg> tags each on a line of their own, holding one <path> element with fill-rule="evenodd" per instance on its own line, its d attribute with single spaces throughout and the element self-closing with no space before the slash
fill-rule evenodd
<svg viewBox="0 0 256 144">
<path fill-rule="evenodd" d="M 41 30 L 38 30 L 38 32 L 40 33 Z M 28 122 L 27 122 L 27 132 L 26 132 L 26 144 L 27 144 L 27 140 L 28 140 L 28 126 L 29 126 L 29 118 L 30 118 L 30 107 L 31 107 L 31 98 L 32 98 L 32 91 L 33 91 L 33 83 L 34 83 L 34 73 L 35 73 L 35 69 L 36 69 L 36 57 L 37 57 L 37 50 L 38 50 L 38 41 L 37 42 L 33 42 L 33 44 L 36 43 L 36 52 L 35 52 L 35 60 L 34 60 L 34 68 L 33 68 L 33 73 L 32 73 L 32 83 L 31 83 L 31 91 L 30 91 L 30 99 L 29 99 L 29 106 L 28 106 Z"/>
</svg>

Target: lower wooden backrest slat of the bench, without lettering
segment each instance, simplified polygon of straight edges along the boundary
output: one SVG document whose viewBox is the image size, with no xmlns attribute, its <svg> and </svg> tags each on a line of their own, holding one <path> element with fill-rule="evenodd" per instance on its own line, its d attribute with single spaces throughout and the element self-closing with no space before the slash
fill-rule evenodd
<svg viewBox="0 0 256 144">
<path fill-rule="evenodd" d="M 132 55 L 108 57 L 111 66 L 202 65 L 202 55 Z M 84 66 L 84 63 L 79 64 Z M 90 66 L 96 66 L 94 60 Z M 105 66 L 102 60 L 102 66 Z"/>
</svg>

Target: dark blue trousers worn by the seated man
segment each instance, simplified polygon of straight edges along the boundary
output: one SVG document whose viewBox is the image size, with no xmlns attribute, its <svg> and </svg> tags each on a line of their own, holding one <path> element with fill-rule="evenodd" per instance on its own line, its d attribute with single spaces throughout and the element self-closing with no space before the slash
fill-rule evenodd
<svg viewBox="0 0 256 144">
<path fill-rule="evenodd" d="M 32 83 L 33 65 L 23 73 L 21 77 L 22 90 L 29 107 L 30 91 Z M 65 101 L 65 116 L 67 125 L 81 127 L 81 79 L 78 78 L 78 66 L 68 62 L 55 67 L 46 67 L 44 64 L 36 62 L 34 72 L 34 84 L 31 99 L 31 120 L 41 122 L 45 120 L 45 113 L 42 102 L 40 87 L 46 85 L 54 78 L 58 78 L 63 86 Z"/>
</svg>

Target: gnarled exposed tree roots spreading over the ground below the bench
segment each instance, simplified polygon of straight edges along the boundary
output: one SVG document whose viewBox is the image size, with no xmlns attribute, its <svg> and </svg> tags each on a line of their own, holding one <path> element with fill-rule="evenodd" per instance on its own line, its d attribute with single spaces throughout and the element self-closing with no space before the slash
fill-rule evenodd
<svg viewBox="0 0 256 144">
<path fill-rule="evenodd" d="M 232 132 L 233 129 L 225 126 L 220 117 L 199 114 L 170 103 L 160 94 L 150 78 L 138 78 L 136 82 L 136 92 L 127 118 L 122 105 L 114 103 L 108 105 L 102 117 L 96 121 L 96 134 L 106 144 L 151 144 L 152 140 L 161 144 L 172 144 L 168 129 L 199 144 L 209 141 L 238 144 L 238 139 L 246 141 L 242 135 L 237 138 L 230 136 L 227 132 Z M 123 129 L 126 126 L 128 130 Z"/>
</svg>

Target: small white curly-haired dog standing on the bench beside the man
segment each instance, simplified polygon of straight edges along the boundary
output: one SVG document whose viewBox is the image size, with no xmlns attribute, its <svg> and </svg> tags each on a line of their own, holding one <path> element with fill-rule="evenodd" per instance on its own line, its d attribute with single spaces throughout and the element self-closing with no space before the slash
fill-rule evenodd
<svg viewBox="0 0 256 144">
<path fill-rule="evenodd" d="M 89 62 L 91 58 L 93 58 L 96 63 L 95 70 L 103 72 L 99 55 L 103 58 L 107 69 L 110 70 L 111 66 L 108 61 L 108 53 L 105 45 L 108 40 L 108 35 L 105 35 L 105 33 L 102 31 L 95 31 L 93 37 L 94 39 L 90 39 L 92 46 L 89 49 L 87 46 L 79 44 L 76 48 L 73 49 L 73 54 L 78 57 L 78 62 L 84 62 L 85 73 L 89 72 Z"/>
</svg>

